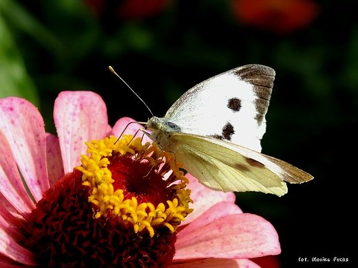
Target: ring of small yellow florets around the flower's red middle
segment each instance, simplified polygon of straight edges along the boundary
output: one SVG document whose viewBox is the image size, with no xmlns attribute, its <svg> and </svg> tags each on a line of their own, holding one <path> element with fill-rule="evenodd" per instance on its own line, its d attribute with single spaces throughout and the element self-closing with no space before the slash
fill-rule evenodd
<svg viewBox="0 0 358 268">
<path fill-rule="evenodd" d="M 193 211 L 189 208 L 189 203 L 193 203 L 189 196 L 191 190 L 185 189 L 189 181 L 179 170 L 182 166 L 174 161 L 171 154 L 160 152 L 156 144 L 143 145 L 140 138 L 133 139 L 131 135 L 124 135 L 118 140 L 110 136 L 85 144 L 88 146 L 87 153 L 90 157 L 81 155 L 82 166 L 76 168 L 83 172 L 83 186 L 89 187 L 91 195 L 88 201 L 96 207 L 95 219 L 108 215 L 112 215 L 113 218 L 118 216 L 119 220 L 131 223 L 134 232 L 147 230 L 152 237 L 156 225 L 164 225 L 171 232 L 175 232 L 178 225 Z M 114 190 L 112 172 L 107 168 L 111 164 L 111 157 L 116 157 L 118 154 L 121 157 L 130 157 L 134 161 L 147 161 L 154 168 L 162 165 L 160 175 L 171 170 L 173 172 L 171 176 L 175 178 L 171 182 L 180 181 L 178 184 L 171 183 L 170 186 L 175 190 L 175 198 L 168 200 L 167 205 L 159 203 L 156 206 L 152 203 L 138 204 L 136 197 L 124 199 L 122 189 Z"/>
</svg>

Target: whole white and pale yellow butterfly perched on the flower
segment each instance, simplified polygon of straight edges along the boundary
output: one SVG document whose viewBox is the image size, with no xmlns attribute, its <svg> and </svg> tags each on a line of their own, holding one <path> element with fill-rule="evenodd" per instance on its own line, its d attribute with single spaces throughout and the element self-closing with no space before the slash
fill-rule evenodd
<svg viewBox="0 0 358 268">
<path fill-rule="evenodd" d="M 284 181 L 313 177 L 260 153 L 274 79 L 275 71 L 264 65 L 213 76 L 184 93 L 164 118 L 150 118 L 145 133 L 207 188 L 282 196 Z"/>
</svg>

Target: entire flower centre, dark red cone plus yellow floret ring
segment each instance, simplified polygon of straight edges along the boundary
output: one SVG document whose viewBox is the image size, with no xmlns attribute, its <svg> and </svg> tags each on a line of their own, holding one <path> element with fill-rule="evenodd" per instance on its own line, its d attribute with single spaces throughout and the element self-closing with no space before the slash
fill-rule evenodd
<svg viewBox="0 0 358 268">
<path fill-rule="evenodd" d="M 130 135 L 86 144 L 82 166 L 36 204 L 24 246 L 41 267 L 170 266 L 193 202 L 180 164 Z"/>
</svg>

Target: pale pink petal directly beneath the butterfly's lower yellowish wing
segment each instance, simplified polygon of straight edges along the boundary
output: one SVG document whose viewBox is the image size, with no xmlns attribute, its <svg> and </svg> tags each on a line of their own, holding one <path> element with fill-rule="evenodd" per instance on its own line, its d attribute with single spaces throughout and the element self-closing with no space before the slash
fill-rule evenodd
<svg viewBox="0 0 358 268">
<path fill-rule="evenodd" d="M 225 201 L 235 203 L 235 194 L 233 192 L 219 192 L 206 188 L 198 182 L 196 177 L 189 173 L 185 177 L 189 179 L 187 188 L 191 190 L 190 197 L 194 201 L 190 208 L 193 208 L 194 211 L 185 218 L 184 224 L 191 223 L 216 203 Z"/>
</svg>

